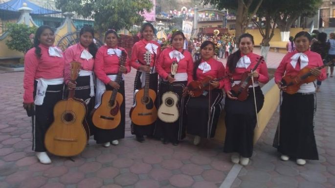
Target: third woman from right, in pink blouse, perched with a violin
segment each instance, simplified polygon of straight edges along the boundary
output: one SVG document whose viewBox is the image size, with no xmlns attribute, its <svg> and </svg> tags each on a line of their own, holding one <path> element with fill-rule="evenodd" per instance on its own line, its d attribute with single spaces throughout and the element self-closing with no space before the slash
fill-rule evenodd
<svg viewBox="0 0 335 188">
<path fill-rule="evenodd" d="M 201 44 L 201 59 L 194 63 L 193 80 L 201 81 L 206 77 L 222 78 L 224 66 L 213 58 L 215 45 L 213 42 L 205 41 Z M 204 91 L 200 97 L 191 97 L 186 104 L 187 133 L 195 135 L 194 145 L 200 143 L 201 137 L 212 138 L 215 136 L 216 125 L 221 113 L 221 101 L 223 100 L 223 79 L 210 82 L 213 90 Z"/>
</svg>

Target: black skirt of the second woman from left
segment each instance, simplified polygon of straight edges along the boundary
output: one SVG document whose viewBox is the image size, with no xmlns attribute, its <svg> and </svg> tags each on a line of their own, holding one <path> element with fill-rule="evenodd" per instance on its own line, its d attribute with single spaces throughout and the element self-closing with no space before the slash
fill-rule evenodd
<svg viewBox="0 0 335 188">
<path fill-rule="evenodd" d="M 89 125 L 89 133 L 90 135 L 94 134 L 95 126 L 92 123 L 92 117 L 91 117 L 91 112 L 92 109 L 94 108 L 94 97 L 90 97 L 90 85 L 89 85 L 89 76 L 79 76 L 76 80 L 76 88 L 75 88 L 75 93 L 74 97 L 77 99 L 83 100 L 86 105 L 87 105 L 87 114 L 85 116 L 86 122 Z M 66 89 L 65 92 L 65 98 L 67 98 L 68 95 L 68 89 Z"/>
</svg>

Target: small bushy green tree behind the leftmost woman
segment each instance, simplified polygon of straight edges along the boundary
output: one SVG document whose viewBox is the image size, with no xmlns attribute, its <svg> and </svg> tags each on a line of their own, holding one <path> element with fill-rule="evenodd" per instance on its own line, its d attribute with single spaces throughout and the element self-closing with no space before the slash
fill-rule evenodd
<svg viewBox="0 0 335 188">
<path fill-rule="evenodd" d="M 37 28 L 29 27 L 23 23 L 7 23 L 8 36 L 11 38 L 6 41 L 6 45 L 11 50 L 27 53 L 27 51 L 33 47 L 33 43 L 30 41 L 29 36 L 35 34 Z"/>
</svg>

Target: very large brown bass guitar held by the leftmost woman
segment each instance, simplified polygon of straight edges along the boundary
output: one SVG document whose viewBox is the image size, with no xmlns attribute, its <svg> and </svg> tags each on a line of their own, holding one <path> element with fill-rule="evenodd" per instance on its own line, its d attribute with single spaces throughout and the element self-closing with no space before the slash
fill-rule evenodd
<svg viewBox="0 0 335 188">
<path fill-rule="evenodd" d="M 71 81 L 75 82 L 81 67 L 79 62 L 71 62 Z M 87 105 L 74 98 L 74 89 L 69 90 L 68 99 L 54 106 L 54 122 L 45 133 L 45 148 L 57 156 L 74 156 L 86 147 L 88 133 L 85 129 Z"/>
</svg>

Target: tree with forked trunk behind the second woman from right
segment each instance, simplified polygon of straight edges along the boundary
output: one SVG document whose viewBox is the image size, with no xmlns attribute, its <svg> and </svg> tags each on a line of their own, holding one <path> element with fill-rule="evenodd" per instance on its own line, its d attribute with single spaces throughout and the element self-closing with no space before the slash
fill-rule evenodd
<svg viewBox="0 0 335 188">
<path fill-rule="evenodd" d="M 263 0 L 202 0 L 201 2 L 205 5 L 212 4 L 219 10 L 223 8 L 234 10 L 236 12 L 235 36 L 239 37 L 246 32 L 248 24 L 257 13 Z"/>
</svg>

